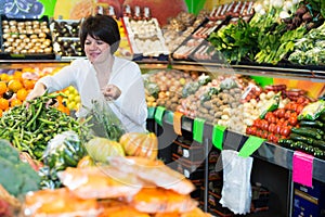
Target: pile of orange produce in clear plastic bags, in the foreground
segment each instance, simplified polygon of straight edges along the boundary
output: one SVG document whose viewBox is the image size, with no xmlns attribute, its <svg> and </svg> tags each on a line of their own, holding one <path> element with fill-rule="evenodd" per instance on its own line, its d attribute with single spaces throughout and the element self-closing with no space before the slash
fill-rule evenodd
<svg viewBox="0 0 325 217">
<path fill-rule="evenodd" d="M 121 156 L 110 157 L 108 162 L 109 165 L 101 167 L 61 171 L 58 177 L 64 187 L 28 193 L 23 214 L 210 216 L 202 212 L 190 196 L 195 189 L 193 183 L 162 162 Z"/>
</svg>

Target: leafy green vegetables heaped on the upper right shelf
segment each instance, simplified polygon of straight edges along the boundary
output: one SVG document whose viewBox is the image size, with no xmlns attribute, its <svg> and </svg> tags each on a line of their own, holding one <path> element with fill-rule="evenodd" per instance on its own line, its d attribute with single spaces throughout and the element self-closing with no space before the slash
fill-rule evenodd
<svg viewBox="0 0 325 217">
<path fill-rule="evenodd" d="M 231 23 L 211 34 L 208 41 L 230 63 L 286 62 L 296 46 L 299 46 L 297 40 L 324 23 L 321 4 L 320 1 L 257 1 L 253 7 L 256 14 L 249 23 L 239 17 L 237 23 Z M 322 52 L 314 54 L 317 58 L 312 63 L 322 62 Z"/>
</svg>

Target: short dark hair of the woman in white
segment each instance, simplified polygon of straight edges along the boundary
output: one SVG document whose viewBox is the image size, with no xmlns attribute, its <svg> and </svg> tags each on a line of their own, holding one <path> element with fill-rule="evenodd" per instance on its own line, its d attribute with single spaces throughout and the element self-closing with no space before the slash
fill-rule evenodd
<svg viewBox="0 0 325 217">
<path fill-rule="evenodd" d="M 84 49 L 84 41 L 88 35 L 108 43 L 112 54 L 115 53 L 119 47 L 119 28 L 117 22 L 112 16 L 96 14 L 88 16 L 81 22 L 79 38 L 82 49 Z"/>
</svg>

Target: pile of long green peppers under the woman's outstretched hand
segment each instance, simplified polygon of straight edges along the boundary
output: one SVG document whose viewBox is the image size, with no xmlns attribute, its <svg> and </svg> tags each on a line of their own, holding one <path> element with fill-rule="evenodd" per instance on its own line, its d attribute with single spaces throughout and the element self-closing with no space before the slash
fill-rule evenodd
<svg viewBox="0 0 325 217">
<path fill-rule="evenodd" d="M 60 93 L 57 93 L 60 94 Z M 21 152 L 42 161 L 48 142 L 57 133 L 73 130 L 82 136 L 87 127 L 51 104 L 57 94 L 46 94 L 12 107 L 0 118 L 0 138 Z"/>
</svg>

